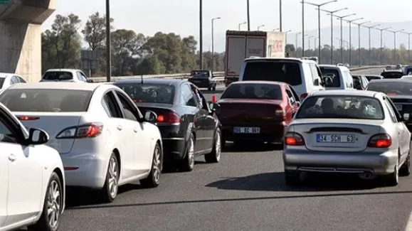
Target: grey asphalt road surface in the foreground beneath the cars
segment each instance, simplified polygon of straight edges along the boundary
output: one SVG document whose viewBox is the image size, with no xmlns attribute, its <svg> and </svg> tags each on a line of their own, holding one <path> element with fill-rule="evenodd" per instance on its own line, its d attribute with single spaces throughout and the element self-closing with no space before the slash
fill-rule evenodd
<svg viewBox="0 0 412 231">
<path fill-rule="evenodd" d="M 228 146 L 220 163 L 199 158 L 190 173 L 163 174 L 158 188 L 124 186 L 111 204 L 72 193 L 60 230 L 404 230 L 412 176 L 396 187 L 344 176 L 287 187 L 275 148 Z"/>
</svg>

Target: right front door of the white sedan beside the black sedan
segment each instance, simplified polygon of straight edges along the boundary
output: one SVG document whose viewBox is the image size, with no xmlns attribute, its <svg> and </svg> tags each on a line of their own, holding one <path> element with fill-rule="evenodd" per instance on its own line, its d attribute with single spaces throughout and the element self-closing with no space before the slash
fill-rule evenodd
<svg viewBox="0 0 412 231">
<path fill-rule="evenodd" d="M 137 107 L 134 106 L 132 100 L 119 90 L 115 90 L 117 99 L 123 112 L 123 127 L 125 131 L 125 147 L 127 149 L 127 168 L 132 171 L 132 176 L 137 176 L 146 173 L 151 168 L 152 163 L 152 141 L 145 133 L 149 124 L 140 123 L 136 114 Z M 145 129 L 146 128 L 146 129 Z"/>
</svg>

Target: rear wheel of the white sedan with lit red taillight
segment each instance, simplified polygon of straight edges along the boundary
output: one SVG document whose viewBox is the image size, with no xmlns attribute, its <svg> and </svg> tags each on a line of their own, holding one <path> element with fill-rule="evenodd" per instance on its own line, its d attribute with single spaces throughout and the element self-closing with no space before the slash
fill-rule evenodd
<svg viewBox="0 0 412 231">
<path fill-rule="evenodd" d="M 113 165 L 114 164 L 114 165 Z M 110 156 L 109 165 L 107 166 L 105 185 L 101 190 L 102 201 L 105 203 L 112 203 L 117 196 L 119 190 L 120 177 L 119 160 L 114 153 Z"/>
</svg>

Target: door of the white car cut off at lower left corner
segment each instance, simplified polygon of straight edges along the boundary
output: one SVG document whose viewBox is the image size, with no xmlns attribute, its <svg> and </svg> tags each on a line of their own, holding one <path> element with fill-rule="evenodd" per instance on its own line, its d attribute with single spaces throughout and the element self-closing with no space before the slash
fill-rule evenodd
<svg viewBox="0 0 412 231">
<path fill-rule="evenodd" d="M 37 152 L 36 147 L 19 144 L 24 137 L 20 124 L 1 111 L 0 109 L 1 155 L 6 157 L 9 176 L 7 218 L 3 225 L 9 226 L 30 219 L 40 212 L 43 203 L 43 164 L 42 153 Z"/>
</svg>

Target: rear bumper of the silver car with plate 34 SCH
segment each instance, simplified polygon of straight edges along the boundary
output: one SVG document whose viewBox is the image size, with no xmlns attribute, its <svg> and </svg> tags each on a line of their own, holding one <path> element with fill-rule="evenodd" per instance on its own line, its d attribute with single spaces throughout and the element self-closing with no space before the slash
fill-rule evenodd
<svg viewBox="0 0 412 231">
<path fill-rule="evenodd" d="M 285 170 L 333 173 L 393 173 L 398 160 L 397 151 L 379 152 L 312 152 L 305 150 L 283 151 Z"/>
</svg>

